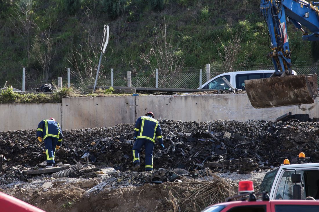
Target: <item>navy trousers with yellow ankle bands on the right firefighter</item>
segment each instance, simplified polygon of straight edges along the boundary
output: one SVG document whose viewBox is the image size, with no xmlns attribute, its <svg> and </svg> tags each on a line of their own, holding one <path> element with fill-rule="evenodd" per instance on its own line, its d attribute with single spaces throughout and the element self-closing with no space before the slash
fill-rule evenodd
<svg viewBox="0 0 319 212">
<path fill-rule="evenodd" d="M 145 170 L 153 170 L 153 149 L 154 143 L 148 139 L 137 139 L 133 145 L 133 163 L 139 163 L 139 152 L 142 146 L 145 145 Z"/>
</svg>

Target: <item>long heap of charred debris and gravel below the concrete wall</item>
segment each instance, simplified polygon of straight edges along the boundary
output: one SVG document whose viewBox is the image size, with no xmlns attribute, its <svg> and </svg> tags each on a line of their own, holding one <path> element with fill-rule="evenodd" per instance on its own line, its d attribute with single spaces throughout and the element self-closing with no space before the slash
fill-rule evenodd
<svg viewBox="0 0 319 212">
<path fill-rule="evenodd" d="M 270 169 L 280 165 L 285 158 L 297 163 L 301 151 L 306 153 L 308 162 L 319 162 L 318 123 L 223 120 L 201 123 L 160 120 L 159 123 L 166 149 L 162 151 L 155 146 L 154 166 L 168 171 L 156 172 L 157 178 L 140 174 L 131 176 L 135 175 L 130 172 L 133 124 L 63 131 L 63 146 L 56 152 L 56 162 L 71 166 L 80 162 L 84 166 L 55 167 L 50 175 L 58 172 L 58 177 L 96 177 L 103 176 L 100 168 L 113 167 L 126 174 L 114 176 L 114 179 L 131 181 L 123 180 L 124 185 L 117 180 L 111 183 L 126 186 L 127 183 L 140 185 L 144 180 L 170 181 L 176 168 L 193 172 L 209 167 L 214 171 L 238 173 Z M 45 166 L 43 150 L 43 144 L 36 140 L 35 130 L 0 132 L 0 154 L 3 155 L 2 159 L 0 157 L 0 184 L 25 180 L 31 173 L 43 174 L 34 171 Z M 144 150 L 140 159 L 143 165 Z"/>
</svg>

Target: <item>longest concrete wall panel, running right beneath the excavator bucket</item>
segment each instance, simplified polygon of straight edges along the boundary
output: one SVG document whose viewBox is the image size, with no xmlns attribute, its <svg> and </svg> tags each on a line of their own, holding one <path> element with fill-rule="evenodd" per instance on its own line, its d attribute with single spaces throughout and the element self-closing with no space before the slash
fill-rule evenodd
<svg viewBox="0 0 319 212">
<path fill-rule="evenodd" d="M 319 117 L 318 101 L 313 104 L 255 109 L 246 94 L 137 96 L 136 104 L 137 117 L 152 111 L 157 119 L 181 121 L 274 121 L 287 112 Z"/>
</svg>

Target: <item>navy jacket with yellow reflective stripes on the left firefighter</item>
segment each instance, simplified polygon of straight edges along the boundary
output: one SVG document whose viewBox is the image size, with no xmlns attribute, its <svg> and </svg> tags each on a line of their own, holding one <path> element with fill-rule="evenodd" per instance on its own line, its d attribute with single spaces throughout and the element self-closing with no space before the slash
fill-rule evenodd
<svg viewBox="0 0 319 212">
<path fill-rule="evenodd" d="M 47 137 L 57 138 L 58 139 L 57 145 L 60 146 L 63 139 L 63 134 L 62 134 L 60 124 L 51 119 L 42 120 L 38 124 L 37 137 L 41 137 L 43 139 L 46 139 Z"/>
</svg>

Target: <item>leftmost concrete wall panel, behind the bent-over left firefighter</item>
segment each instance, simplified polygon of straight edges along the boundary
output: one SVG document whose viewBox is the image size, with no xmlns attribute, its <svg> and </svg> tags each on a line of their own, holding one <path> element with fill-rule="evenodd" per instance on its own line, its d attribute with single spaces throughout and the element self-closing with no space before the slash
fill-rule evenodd
<svg viewBox="0 0 319 212">
<path fill-rule="evenodd" d="M 0 104 L 0 131 L 37 129 L 50 117 L 61 124 L 61 103 Z"/>
</svg>

